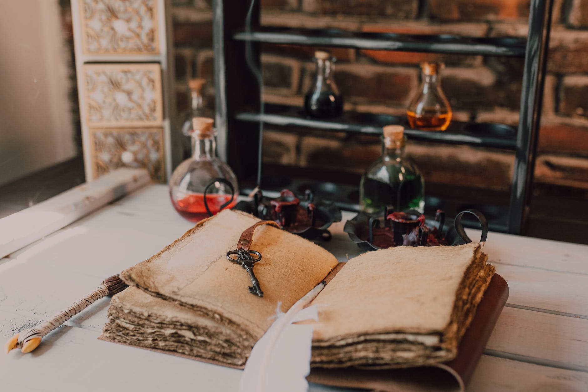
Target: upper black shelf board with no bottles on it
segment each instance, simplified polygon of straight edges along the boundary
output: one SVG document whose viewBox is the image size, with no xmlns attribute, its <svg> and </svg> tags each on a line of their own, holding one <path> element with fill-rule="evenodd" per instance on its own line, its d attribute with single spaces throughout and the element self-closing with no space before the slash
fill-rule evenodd
<svg viewBox="0 0 588 392">
<path fill-rule="evenodd" d="M 412 35 L 350 32 L 339 29 L 261 27 L 233 35 L 239 41 L 289 45 L 342 46 L 384 51 L 427 52 L 460 55 L 524 57 L 526 39 L 459 35 Z"/>
</svg>

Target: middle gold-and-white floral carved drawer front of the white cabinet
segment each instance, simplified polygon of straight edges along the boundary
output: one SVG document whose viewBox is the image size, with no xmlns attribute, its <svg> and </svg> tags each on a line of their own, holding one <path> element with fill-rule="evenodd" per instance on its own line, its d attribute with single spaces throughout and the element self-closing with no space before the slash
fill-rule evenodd
<svg viewBox="0 0 588 392">
<path fill-rule="evenodd" d="M 82 69 L 90 127 L 162 124 L 159 64 L 84 64 Z"/>
</svg>

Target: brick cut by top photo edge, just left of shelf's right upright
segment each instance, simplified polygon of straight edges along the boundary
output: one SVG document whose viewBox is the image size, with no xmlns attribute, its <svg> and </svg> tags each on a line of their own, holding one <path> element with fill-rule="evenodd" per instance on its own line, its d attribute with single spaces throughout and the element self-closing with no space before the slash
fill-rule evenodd
<svg viewBox="0 0 588 392">
<path fill-rule="evenodd" d="M 430 18 L 486 21 L 529 18 L 530 0 L 429 0 Z"/>
</svg>

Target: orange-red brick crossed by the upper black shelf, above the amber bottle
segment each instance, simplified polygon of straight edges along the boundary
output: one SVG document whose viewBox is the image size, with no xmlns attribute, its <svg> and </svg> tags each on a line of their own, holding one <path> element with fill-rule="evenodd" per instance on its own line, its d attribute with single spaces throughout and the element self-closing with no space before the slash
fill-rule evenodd
<svg viewBox="0 0 588 392">
<path fill-rule="evenodd" d="M 450 25 L 431 25 L 431 24 L 366 24 L 363 25 L 362 31 L 365 32 L 385 32 L 396 34 L 456 34 L 484 36 L 487 30 L 486 24 L 450 24 Z M 389 64 L 419 64 L 423 61 L 443 61 L 449 65 L 481 65 L 482 57 L 480 56 L 460 56 L 460 55 L 443 55 L 436 53 L 420 52 L 400 52 L 400 51 L 372 51 L 362 50 L 362 54 L 375 59 L 379 62 Z"/>
</svg>

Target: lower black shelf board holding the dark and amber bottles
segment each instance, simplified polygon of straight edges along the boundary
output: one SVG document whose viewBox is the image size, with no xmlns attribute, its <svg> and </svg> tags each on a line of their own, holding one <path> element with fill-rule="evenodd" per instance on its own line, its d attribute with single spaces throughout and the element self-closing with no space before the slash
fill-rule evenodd
<svg viewBox="0 0 588 392">
<path fill-rule="evenodd" d="M 387 114 L 345 112 L 333 119 L 308 118 L 302 108 L 282 105 L 266 105 L 263 115 L 258 112 L 240 112 L 236 118 L 241 121 L 259 122 L 279 126 L 296 126 L 326 131 L 343 131 L 359 134 L 382 134 L 382 127 L 401 124 L 405 134 L 414 140 L 467 144 L 479 147 L 493 147 L 504 150 L 516 149 L 516 129 L 504 124 L 473 124 L 453 121 L 446 131 L 420 131 L 410 129 L 406 117 Z"/>
</svg>

